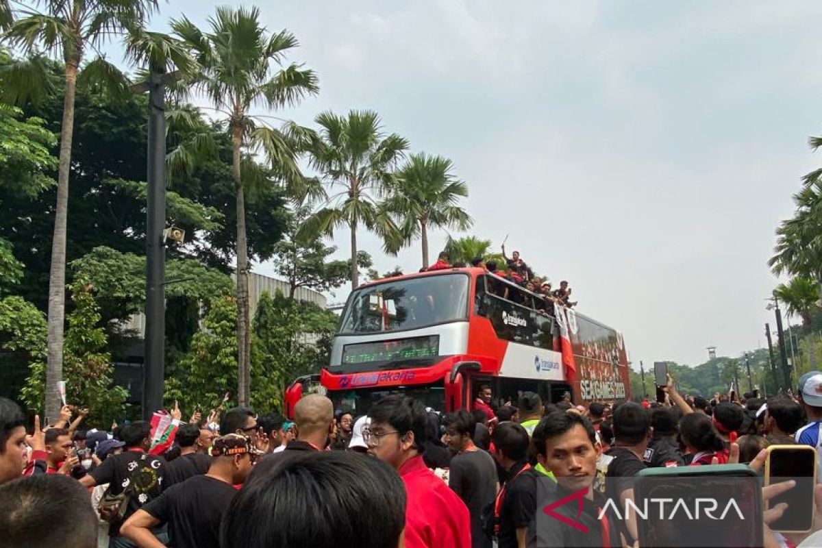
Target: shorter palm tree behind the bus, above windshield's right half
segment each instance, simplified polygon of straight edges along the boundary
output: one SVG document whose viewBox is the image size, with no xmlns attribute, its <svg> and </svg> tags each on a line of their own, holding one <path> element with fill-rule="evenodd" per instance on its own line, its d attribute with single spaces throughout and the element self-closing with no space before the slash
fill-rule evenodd
<svg viewBox="0 0 822 548">
<path fill-rule="evenodd" d="M 468 185 L 454 176 L 452 168 L 450 159 L 411 154 L 395 174 L 390 197 L 384 204 L 399 221 L 405 243 L 420 237 L 423 267 L 431 264 L 428 262 L 430 228 L 468 230 L 473 224 L 470 215 L 458 205 L 460 198 L 468 196 Z"/>
</svg>

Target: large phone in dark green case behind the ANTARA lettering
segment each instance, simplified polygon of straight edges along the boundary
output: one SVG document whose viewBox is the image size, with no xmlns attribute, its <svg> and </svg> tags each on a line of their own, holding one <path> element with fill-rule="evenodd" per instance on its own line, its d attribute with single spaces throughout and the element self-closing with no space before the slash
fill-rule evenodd
<svg viewBox="0 0 822 548">
<path fill-rule="evenodd" d="M 634 481 L 640 546 L 764 546 L 762 483 L 750 467 L 646 468 Z"/>
</svg>

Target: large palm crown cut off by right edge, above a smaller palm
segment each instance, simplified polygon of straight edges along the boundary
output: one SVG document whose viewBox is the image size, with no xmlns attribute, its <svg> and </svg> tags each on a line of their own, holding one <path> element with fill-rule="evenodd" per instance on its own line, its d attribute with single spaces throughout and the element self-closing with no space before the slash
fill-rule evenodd
<svg viewBox="0 0 822 548">
<path fill-rule="evenodd" d="M 815 280 L 822 294 L 822 182 L 809 182 L 793 200 L 797 212 L 777 228 L 777 245 L 768 265 L 774 274 Z"/>
</svg>

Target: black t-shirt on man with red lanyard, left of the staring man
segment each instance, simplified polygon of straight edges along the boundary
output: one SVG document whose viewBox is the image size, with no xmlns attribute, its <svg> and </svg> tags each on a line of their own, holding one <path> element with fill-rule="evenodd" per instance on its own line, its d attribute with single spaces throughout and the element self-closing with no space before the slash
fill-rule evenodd
<svg viewBox="0 0 822 548">
<path fill-rule="evenodd" d="M 537 482 L 541 474 L 533 468 L 517 473 L 526 464 L 527 461 L 523 461 L 510 469 L 512 479 L 505 486 L 500 506 L 498 548 L 517 548 L 516 530 L 527 528 L 537 512 Z"/>
</svg>

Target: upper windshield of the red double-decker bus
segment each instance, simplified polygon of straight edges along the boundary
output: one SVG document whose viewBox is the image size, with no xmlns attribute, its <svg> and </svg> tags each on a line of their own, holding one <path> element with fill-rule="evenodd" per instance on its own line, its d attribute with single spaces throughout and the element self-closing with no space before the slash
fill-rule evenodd
<svg viewBox="0 0 822 548">
<path fill-rule="evenodd" d="M 469 276 L 398 279 L 357 289 L 340 333 L 386 333 L 468 319 Z"/>
</svg>

